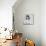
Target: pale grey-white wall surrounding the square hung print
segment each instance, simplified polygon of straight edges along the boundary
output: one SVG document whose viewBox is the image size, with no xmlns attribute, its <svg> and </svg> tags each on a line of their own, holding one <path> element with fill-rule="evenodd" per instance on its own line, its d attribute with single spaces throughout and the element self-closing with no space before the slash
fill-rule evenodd
<svg viewBox="0 0 46 46">
<path fill-rule="evenodd" d="M 14 5 L 15 6 L 15 5 Z M 36 46 L 40 46 L 41 32 L 41 1 L 40 0 L 23 0 L 23 2 L 15 9 L 15 27 L 24 37 L 35 41 Z M 34 15 L 33 25 L 24 25 L 24 17 L 26 14 Z"/>
</svg>

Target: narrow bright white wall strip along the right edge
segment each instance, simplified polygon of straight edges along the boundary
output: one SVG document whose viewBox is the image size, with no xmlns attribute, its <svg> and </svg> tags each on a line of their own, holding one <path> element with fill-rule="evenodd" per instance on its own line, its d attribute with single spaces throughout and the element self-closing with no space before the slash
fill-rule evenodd
<svg viewBox="0 0 46 46">
<path fill-rule="evenodd" d="M 46 46 L 46 0 L 41 1 L 41 39 L 42 46 Z"/>
</svg>

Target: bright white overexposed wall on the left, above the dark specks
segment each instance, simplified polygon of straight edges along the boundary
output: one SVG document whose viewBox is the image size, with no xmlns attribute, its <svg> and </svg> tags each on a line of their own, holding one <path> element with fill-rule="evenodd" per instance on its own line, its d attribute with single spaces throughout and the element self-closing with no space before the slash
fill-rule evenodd
<svg viewBox="0 0 46 46">
<path fill-rule="evenodd" d="M 0 0 L 0 27 L 12 28 L 12 6 L 16 0 Z"/>
</svg>

